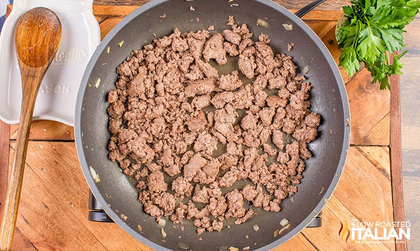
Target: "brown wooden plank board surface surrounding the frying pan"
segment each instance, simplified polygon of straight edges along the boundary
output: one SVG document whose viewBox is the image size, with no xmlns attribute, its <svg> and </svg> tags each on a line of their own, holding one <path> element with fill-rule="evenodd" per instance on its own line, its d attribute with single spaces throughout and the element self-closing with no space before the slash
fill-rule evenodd
<svg viewBox="0 0 420 251">
<path fill-rule="evenodd" d="M 137 2 L 141 4 L 144 1 Z M 339 1 L 333 5 L 342 5 L 336 2 Z M 94 6 L 101 37 L 136 8 Z M 341 52 L 334 32 L 341 13 L 313 10 L 304 17 L 336 62 Z M 378 85 L 371 85 L 366 69 L 353 78 L 342 69 L 340 71 L 346 84 L 352 120 L 346 167 L 336 191 L 323 210 L 322 227 L 304 229 L 276 251 L 395 250 L 394 243 L 346 243 L 338 235 L 340 223 L 344 220 L 392 222 L 394 219 L 390 92 L 380 91 Z M 10 159 L 14 154 L 17 129 L 17 125 L 0 123 L 0 150 L 2 145 L 8 145 Z M 2 142 L 4 137 L 1 134 L 4 133 L 9 134 L 9 140 L 3 139 Z M 0 151 L 0 155 L 1 166 L 7 161 L 7 152 Z M 0 189 L 4 187 L 5 173 L 0 170 Z M 116 224 L 89 222 L 87 204 L 88 186 L 78 162 L 73 127 L 50 121 L 33 122 L 13 250 L 150 250 Z"/>
</svg>

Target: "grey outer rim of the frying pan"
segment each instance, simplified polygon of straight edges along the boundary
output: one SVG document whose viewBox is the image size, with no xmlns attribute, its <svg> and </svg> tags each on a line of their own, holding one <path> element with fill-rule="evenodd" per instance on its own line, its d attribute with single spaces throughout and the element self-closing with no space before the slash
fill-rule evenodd
<svg viewBox="0 0 420 251">
<path fill-rule="evenodd" d="M 92 73 L 93 67 L 95 65 L 95 62 L 98 60 L 101 53 L 106 49 L 106 46 L 109 44 L 109 42 L 114 38 L 114 36 L 129 22 L 131 22 L 134 18 L 136 18 L 138 15 L 144 13 L 145 11 L 151 9 L 152 7 L 155 7 L 161 3 L 167 2 L 170 0 L 152 0 L 150 2 L 147 2 L 143 5 L 141 5 L 139 8 L 137 8 L 135 11 L 127 15 L 123 20 L 121 20 L 117 25 L 112 28 L 112 30 L 105 36 L 105 38 L 101 41 L 101 43 L 96 48 L 94 54 L 92 55 L 88 66 L 86 67 L 86 70 L 83 74 L 82 82 L 78 91 L 77 95 L 77 101 L 76 101 L 76 111 L 75 111 L 75 127 L 74 127 L 74 133 L 75 133 L 75 143 L 76 143 L 76 150 L 79 157 L 79 162 L 83 171 L 83 174 L 85 176 L 85 179 L 88 183 L 89 188 L 91 189 L 93 195 L 98 200 L 98 202 L 101 204 L 104 211 L 111 217 L 111 219 L 120 227 L 122 228 L 126 233 L 128 233 L 130 236 L 135 238 L 136 240 L 140 241 L 141 243 L 147 245 L 148 247 L 151 247 L 156 250 L 163 250 L 163 251 L 170 251 L 170 249 L 167 249 L 165 247 L 162 247 L 149 239 L 143 237 L 138 232 L 130 228 L 126 225 L 126 223 L 118 216 L 116 212 L 114 212 L 110 206 L 108 206 L 107 202 L 104 199 L 104 196 L 101 194 L 99 189 L 96 186 L 96 182 L 93 180 L 92 176 L 90 175 L 89 171 L 89 165 L 86 161 L 84 149 L 83 149 L 83 143 L 82 143 L 82 129 L 81 129 L 81 115 L 82 115 L 82 105 L 83 105 L 83 98 L 86 91 L 86 86 L 88 84 L 88 80 L 90 78 L 90 75 Z M 320 202 L 317 204 L 317 206 L 312 210 L 312 212 L 307 216 L 302 222 L 300 222 L 297 226 L 295 226 L 289 233 L 282 236 L 281 238 L 275 240 L 274 242 L 261 247 L 257 249 L 258 251 L 266 251 L 266 250 L 272 250 L 274 248 L 279 247 L 281 244 L 287 242 L 289 239 L 300 233 L 318 214 L 321 212 L 323 207 L 325 206 L 326 202 L 329 200 L 329 198 L 332 196 L 332 193 L 334 192 L 338 181 L 341 178 L 341 174 L 343 172 L 348 149 L 350 146 L 350 125 L 346 125 L 345 120 L 348 118 L 350 120 L 350 107 L 348 103 L 348 97 L 347 92 L 345 89 L 344 81 L 342 79 L 342 76 L 339 72 L 339 69 L 331 55 L 331 53 L 328 51 L 324 43 L 321 41 L 321 39 L 316 35 L 316 33 L 300 18 L 298 18 L 296 15 L 294 15 L 292 12 L 290 12 L 285 7 L 281 6 L 280 4 L 273 2 L 271 0 L 255 0 L 258 3 L 264 4 L 266 6 L 269 6 L 276 11 L 280 12 L 281 14 L 288 17 L 293 24 L 298 25 L 304 32 L 307 34 L 311 40 L 316 44 L 316 46 L 321 51 L 322 55 L 328 62 L 328 65 L 335 77 L 335 80 L 337 82 L 337 86 L 340 92 L 340 96 L 342 99 L 342 106 L 343 106 L 343 114 L 344 117 L 342 118 L 344 120 L 343 123 L 343 144 L 341 146 L 341 155 L 340 160 L 336 169 L 336 172 L 334 174 L 334 177 L 329 185 L 329 187 L 326 189 L 326 192 L 322 196 Z M 349 123 L 350 124 L 350 123 Z"/>
</svg>

